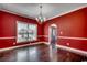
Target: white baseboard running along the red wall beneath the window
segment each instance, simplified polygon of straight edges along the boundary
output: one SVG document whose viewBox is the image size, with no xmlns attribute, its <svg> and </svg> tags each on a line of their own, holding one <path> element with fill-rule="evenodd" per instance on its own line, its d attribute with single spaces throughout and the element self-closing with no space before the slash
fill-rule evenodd
<svg viewBox="0 0 87 65">
<path fill-rule="evenodd" d="M 18 45 L 18 46 L 12 46 L 12 47 L 6 47 L 6 48 L 0 48 L 0 52 L 18 48 L 18 47 L 24 47 L 24 46 L 31 46 L 31 45 L 36 45 L 36 44 L 43 44 L 45 42 L 36 42 L 36 43 L 30 43 L 30 44 L 24 44 L 24 45 Z"/>
</svg>

